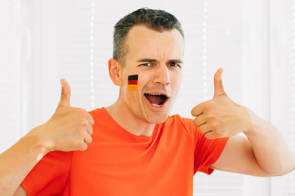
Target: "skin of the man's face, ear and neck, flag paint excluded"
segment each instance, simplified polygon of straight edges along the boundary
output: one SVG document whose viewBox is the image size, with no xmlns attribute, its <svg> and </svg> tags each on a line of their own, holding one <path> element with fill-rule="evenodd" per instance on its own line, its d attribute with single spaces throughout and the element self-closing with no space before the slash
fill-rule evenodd
<svg viewBox="0 0 295 196">
<path fill-rule="evenodd" d="M 109 74 L 120 86 L 118 100 L 106 107 L 123 128 L 134 135 L 150 136 L 157 123 L 169 116 L 181 84 L 184 41 L 176 30 L 157 32 L 145 26 L 131 28 L 127 39 L 125 65 L 109 60 Z M 141 61 L 141 59 L 154 59 Z M 128 90 L 128 75 L 138 74 L 138 90 Z M 160 111 L 151 109 L 145 93 L 166 93 L 167 104 Z M 124 115 L 121 115 L 124 114 Z"/>
</svg>

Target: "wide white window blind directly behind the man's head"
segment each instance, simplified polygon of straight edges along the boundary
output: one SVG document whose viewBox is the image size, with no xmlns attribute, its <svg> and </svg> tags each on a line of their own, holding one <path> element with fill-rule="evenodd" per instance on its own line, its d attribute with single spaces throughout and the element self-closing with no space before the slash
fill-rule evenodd
<svg viewBox="0 0 295 196">
<path fill-rule="evenodd" d="M 214 3 L 127 0 L 104 2 L 63 0 L 57 4 L 56 77 L 71 86 L 73 106 L 93 109 L 112 104 L 118 87 L 108 74 L 113 52 L 113 27 L 127 13 L 140 7 L 164 9 L 176 15 L 185 34 L 182 88 L 172 113 L 190 117 L 190 110 L 213 97 L 213 75 L 223 67 L 228 94 L 242 104 L 242 7 L 241 0 Z M 66 13 L 66 14 L 65 14 Z M 243 196 L 243 176 L 215 171 L 197 173 L 196 196 Z"/>
</svg>

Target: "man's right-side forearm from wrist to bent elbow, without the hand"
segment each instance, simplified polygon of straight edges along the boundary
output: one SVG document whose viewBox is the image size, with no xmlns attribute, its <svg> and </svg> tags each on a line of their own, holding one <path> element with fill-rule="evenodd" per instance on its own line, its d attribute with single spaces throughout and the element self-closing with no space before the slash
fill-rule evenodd
<svg viewBox="0 0 295 196">
<path fill-rule="evenodd" d="M 274 125 L 259 119 L 244 134 L 253 147 L 258 164 L 265 171 L 283 175 L 295 169 L 294 154 Z"/>
</svg>

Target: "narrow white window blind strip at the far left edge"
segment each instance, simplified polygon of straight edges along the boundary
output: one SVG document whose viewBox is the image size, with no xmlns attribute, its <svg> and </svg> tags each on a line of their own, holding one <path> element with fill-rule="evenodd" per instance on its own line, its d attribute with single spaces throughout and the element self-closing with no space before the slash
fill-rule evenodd
<svg viewBox="0 0 295 196">
<path fill-rule="evenodd" d="M 19 1 L 0 1 L 0 152 L 17 141 L 21 123 L 19 14 Z"/>
</svg>

